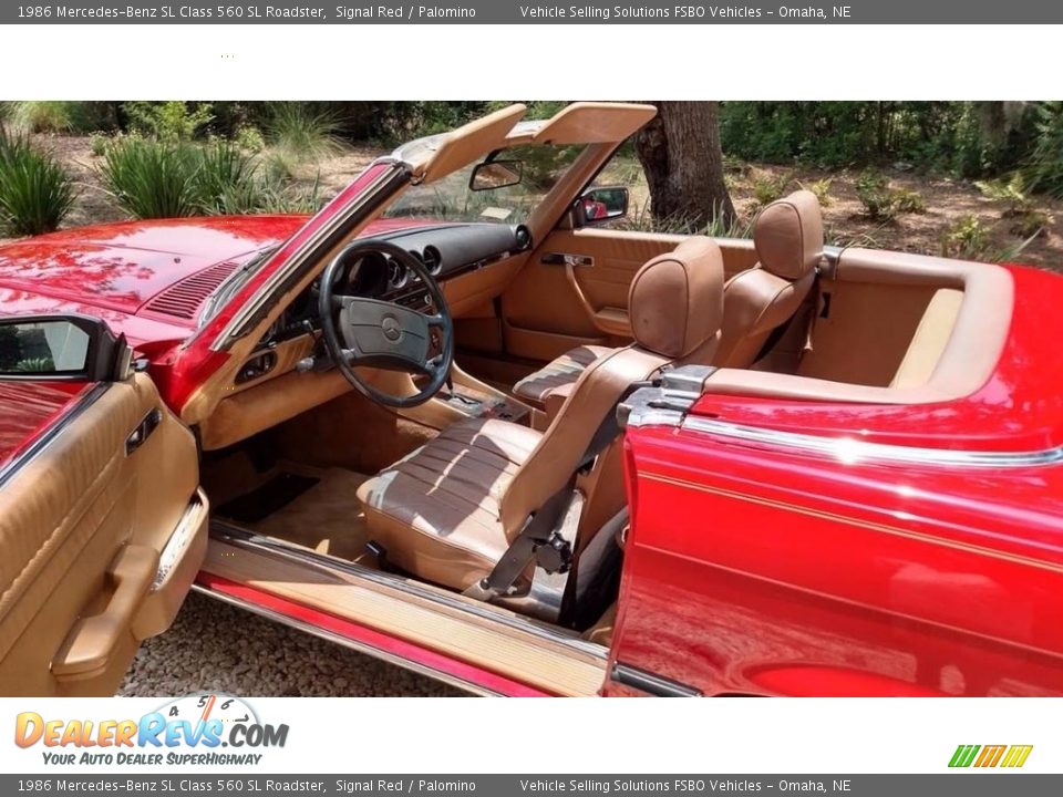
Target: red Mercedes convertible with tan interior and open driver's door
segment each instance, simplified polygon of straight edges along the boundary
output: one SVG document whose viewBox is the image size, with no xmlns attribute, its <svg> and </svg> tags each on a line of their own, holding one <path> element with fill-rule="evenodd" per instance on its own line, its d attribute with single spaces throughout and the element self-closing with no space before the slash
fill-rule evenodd
<svg viewBox="0 0 1063 797">
<path fill-rule="evenodd" d="M 484 694 L 1063 693 L 1063 280 L 625 230 L 654 110 L 524 112 L 0 247 L 0 693 L 189 589 Z"/>
</svg>

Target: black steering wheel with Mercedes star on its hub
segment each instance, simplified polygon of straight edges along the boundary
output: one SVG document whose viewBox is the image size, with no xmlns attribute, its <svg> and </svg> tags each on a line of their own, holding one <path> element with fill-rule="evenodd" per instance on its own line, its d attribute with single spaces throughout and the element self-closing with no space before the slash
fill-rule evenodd
<svg viewBox="0 0 1063 797">
<path fill-rule="evenodd" d="M 349 296 L 337 290 L 345 265 L 357 263 L 370 253 L 389 257 L 420 278 L 432 300 L 434 313 L 426 314 L 399 302 Z M 363 262 L 362 267 L 365 266 Z M 321 276 L 318 310 L 329 355 L 347 381 L 368 398 L 386 406 L 411 407 L 426 402 L 446 383 L 454 362 L 454 321 L 443 291 L 429 269 L 402 247 L 374 240 L 347 246 Z M 438 331 L 434 346 L 432 330 Z M 360 376 L 354 370 L 359 365 L 405 371 L 426 376 L 429 381 L 414 395 L 392 395 Z"/>
</svg>

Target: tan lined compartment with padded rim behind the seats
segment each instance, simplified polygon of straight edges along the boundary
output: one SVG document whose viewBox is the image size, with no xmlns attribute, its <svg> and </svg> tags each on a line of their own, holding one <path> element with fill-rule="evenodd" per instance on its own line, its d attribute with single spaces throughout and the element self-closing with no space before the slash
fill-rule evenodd
<svg viewBox="0 0 1063 797">
<path fill-rule="evenodd" d="M 827 318 L 816 319 L 797 374 L 720 369 L 704 391 L 871 404 L 961 398 L 992 375 L 1014 308 L 1014 281 L 999 266 L 856 248 L 842 253 L 823 292 Z"/>
</svg>

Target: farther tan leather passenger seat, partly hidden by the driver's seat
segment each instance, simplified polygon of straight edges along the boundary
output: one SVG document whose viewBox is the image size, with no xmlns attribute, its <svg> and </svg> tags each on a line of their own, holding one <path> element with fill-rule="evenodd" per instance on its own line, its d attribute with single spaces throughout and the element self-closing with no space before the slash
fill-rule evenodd
<svg viewBox="0 0 1063 797">
<path fill-rule="evenodd" d="M 758 262 L 724 287 L 722 339 L 711 358 L 694 352 L 687 363 L 749 368 L 768 335 L 786 323 L 815 283 L 823 252 L 823 216 L 815 194 L 799 190 L 772 203 L 756 219 L 753 242 Z M 514 395 L 543 407 L 551 391 L 571 384 L 595 358 L 612 351 L 579 346 L 513 386 Z"/>
</svg>

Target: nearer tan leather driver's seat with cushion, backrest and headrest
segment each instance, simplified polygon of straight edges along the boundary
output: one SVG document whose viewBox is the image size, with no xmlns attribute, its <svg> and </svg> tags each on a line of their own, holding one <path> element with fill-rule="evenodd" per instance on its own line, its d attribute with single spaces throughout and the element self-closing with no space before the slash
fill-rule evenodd
<svg viewBox="0 0 1063 797">
<path fill-rule="evenodd" d="M 370 536 L 390 561 L 460 590 L 488 576 L 529 516 L 569 483 L 629 386 L 715 348 L 723 318 L 720 248 L 696 238 L 653 258 L 632 280 L 629 307 L 636 342 L 594 360 L 546 432 L 463 421 L 359 488 Z M 615 514 L 623 497 L 613 493 Z"/>
</svg>

